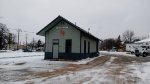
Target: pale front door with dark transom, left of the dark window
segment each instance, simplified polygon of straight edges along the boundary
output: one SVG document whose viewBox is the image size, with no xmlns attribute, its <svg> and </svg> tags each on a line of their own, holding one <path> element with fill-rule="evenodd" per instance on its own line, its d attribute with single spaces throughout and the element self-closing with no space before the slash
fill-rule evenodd
<svg viewBox="0 0 150 84">
<path fill-rule="evenodd" d="M 59 40 L 54 39 L 53 40 L 53 58 L 58 58 L 59 53 Z"/>
</svg>

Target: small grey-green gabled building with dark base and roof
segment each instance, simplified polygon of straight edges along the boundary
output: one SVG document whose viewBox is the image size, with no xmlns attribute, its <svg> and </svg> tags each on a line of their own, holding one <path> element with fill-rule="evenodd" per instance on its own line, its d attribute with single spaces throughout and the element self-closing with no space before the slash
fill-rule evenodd
<svg viewBox="0 0 150 84">
<path fill-rule="evenodd" d="M 99 39 L 62 16 L 37 35 L 45 36 L 44 59 L 83 59 L 99 55 Z"/>
</svg>

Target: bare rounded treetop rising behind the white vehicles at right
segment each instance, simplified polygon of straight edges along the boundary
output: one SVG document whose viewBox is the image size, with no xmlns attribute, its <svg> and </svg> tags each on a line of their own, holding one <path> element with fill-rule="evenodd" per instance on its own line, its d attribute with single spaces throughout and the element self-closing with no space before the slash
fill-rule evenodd
<svg viewBox="0 0 150 84">
<path fill-rule="evenodd" d="M 123 34 L 124 43 L 132 43 L 134 41 L 134 31 L 126 30 Z"/>
</svg>

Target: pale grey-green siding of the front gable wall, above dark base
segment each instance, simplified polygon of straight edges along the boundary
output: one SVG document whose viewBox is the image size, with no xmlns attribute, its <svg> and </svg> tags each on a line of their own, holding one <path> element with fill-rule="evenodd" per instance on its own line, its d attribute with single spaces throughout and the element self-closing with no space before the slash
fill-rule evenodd
<svg viewBox="0 0 150 84">
<path fill-rule="evenodd" d="M 58 28 L 61 26 L 68 27 L 63 29 L 65 32 L 64 36 L 60 34 L 61 29 Z M 66 39 L 72 39 L 72 53 L 80 52 L 80 31 L 65 22 L 63 25 L 61 25 L 61 22 L 58 23 L 46 33 L 46 52 L 52 52 L 53 39 L 59 39 L 59 52 L 65 52 Z"/>
</svg>

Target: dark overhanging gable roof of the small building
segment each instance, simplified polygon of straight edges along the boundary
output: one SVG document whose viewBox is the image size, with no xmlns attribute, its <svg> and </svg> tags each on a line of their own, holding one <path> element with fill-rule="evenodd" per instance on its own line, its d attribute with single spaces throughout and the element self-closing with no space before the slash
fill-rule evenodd
<svg viewBox="0 0 150 84">
<path fill-rule="evenodd" d="M 67 19 L 63 18 L 62 16 L 58 16 L 57 18 L 55 18 L 52 22 L 50 22 L 47 26 L 45 26 L 43 29 L 41 29 L 38 33 L 36 33 L 37 35 L 41 35 L 41 36 L 45 36 L 45 33 L 50 30 L 51 28 L 53 28 L 54 26 L 56 26 L 60 21 L 65 21 L 68 24 L 72 25 L 73 27 L 75 27 L 76 29 L 78 29 L 79 31 L 81 31 L 82 33 L 96 39 L 96 40 L 100 40 L 99 38 L 95 37 L 94 35 L 92 35 L 91 33 L 83 30 L 82 28 L 78 27 L 77 25 L 71 23 L 70 21 L 68 21 Z"/>
</svg>

